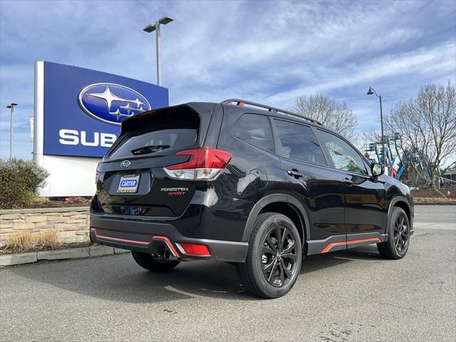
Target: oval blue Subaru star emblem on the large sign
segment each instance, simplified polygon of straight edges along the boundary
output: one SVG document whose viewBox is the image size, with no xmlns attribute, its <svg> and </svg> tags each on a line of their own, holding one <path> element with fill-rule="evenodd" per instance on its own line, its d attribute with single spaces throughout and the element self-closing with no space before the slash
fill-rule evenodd
<svg viewBox="0 0 456 342">
<path fill-rule="evenodd" d="M 81 90 L 78 102 L 92 118 L 113 125 L 120 125 L 123 119 L 151 109 L 150 103 L 138 91 L 114 83 L 90 84 Z"/>
</svg>

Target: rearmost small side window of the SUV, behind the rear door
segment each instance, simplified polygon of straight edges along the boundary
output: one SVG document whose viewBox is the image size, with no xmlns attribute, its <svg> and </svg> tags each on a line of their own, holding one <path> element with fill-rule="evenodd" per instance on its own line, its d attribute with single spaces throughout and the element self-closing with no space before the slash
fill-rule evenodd
<svg viewBox="0 0 456 342">
<path fill-rule="evenodd" d="M 264 115 L 244 114 L 233 128 L 234 136 L 263 150 L 274 152 L 271 125 Z"/>
</svg>

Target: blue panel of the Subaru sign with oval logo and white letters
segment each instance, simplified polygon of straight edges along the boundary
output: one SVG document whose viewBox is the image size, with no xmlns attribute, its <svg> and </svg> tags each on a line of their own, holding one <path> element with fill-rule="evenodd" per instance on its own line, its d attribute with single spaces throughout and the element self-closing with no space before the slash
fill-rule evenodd
<svg viewBox="0 0 456 342">
<path fill-rule="evenodd" d="M 43 154 L 103 157 L 123 119 L 167 105 L 167 88 L 45 62 Z"/>
</svg>

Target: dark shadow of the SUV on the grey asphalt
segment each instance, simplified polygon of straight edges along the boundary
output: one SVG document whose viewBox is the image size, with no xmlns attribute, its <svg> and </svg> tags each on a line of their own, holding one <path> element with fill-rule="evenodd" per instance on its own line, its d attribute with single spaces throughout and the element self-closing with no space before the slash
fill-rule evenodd
<svg viewBox="0 0 456 342">
<path fill-rule="evenodd" d="M 372 254 L 372 255 L 371 255 Z M 373 249 L 353 249 L 306 257 L 301 274 L 343 267 L 352 259 L 378 259 Z M 4 270 L 6 271 L 6 270 Z M 234 266 L 217 261 L 182 262 L 171 271 L 152 273 L 140 268 L 129 254 L 51 261 L 8 269 L 17 276 L 84 296 L 128 303 L 158 303 L 214 297 L 256 301 L 244 291 Z M 46 294 L 47 295 L 47 294 Z"/>
</svg>

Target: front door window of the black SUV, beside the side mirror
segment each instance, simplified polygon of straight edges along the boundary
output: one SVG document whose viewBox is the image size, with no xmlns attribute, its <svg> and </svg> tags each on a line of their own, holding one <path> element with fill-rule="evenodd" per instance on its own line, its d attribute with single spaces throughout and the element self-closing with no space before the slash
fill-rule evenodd
<svg viewBox="0 0 456 342">
<path fill-rule="evenodd" d="M 318 136 L 328 148 L 336 169 L 368 175 L 363 158 L 347 142 L 323 130 L 318 130 Z"/>
</svg>

